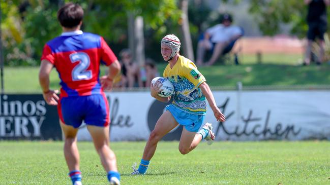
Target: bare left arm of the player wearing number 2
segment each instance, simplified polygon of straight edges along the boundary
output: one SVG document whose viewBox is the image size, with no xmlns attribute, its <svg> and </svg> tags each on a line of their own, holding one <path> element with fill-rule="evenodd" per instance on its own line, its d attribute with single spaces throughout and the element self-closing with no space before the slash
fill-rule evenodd
<svg viewBox="0 0 330 185">
<path fill-rule="evenodd" d="M 53 64 L 48 60 L 42 60 L 39 70 L 39 83 L 42 89 L 42 95 L 49 105 L 57 105 L 59 97 L 57 96 L 58 90 L 49 89 L 49 74 Z"/>
</svg>

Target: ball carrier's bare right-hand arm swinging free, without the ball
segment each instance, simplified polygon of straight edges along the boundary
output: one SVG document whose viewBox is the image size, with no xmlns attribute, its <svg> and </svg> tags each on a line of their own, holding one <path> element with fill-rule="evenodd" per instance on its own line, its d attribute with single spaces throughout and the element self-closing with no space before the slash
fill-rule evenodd
<svg viewBox="0 0 330 185">
<path fill-rule="evenodd" d="M 216 100 L 214 99 L 214 96 L 209 86 L 206 84 L 206 82 L 203 82 L 199 85 L 199 88 L 202 90 L 205 98 L 208 101 L 209 106 L 211 106 L 213 114 L 216 117 L 217 121 L 224 122 L 226 120 L 226 117 L 221 113 L 220 109 L 218 108 Z"/>
</svg>

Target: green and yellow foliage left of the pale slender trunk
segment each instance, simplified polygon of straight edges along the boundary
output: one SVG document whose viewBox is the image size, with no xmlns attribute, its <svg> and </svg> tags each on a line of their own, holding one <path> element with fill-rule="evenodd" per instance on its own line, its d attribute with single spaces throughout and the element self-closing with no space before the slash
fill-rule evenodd
<svg viewBox="0 0 330 185">
<path fill-rule="evenodd" d="M 30 65 L 39 64 L 44 44 L 62 31 L 56 20 L 56 13 L 59 6 L 66 2 L 69 1 L 8 0 L 6 3 L 1 1 L 4 10 L 1 25 L 4 32 L 2 39 L 7 65 L 22 65 L 26 61 L 30 61 L 26 63 Z M 160 40 L 160 35 L 167 31 L 164 23 L 168 20 L 178 20 L 180 12 L 175 0 L 77 0 L 75 2 L 85 10 L 82 29 L 104 36 L 112 46 L 123 45 L 127 41 L 128 13 L 133 13 L 135 17 L 143 17 L 144 22 L 147 23 L 146 28 L 155 30 Z M 115 47 L 117 48 L 119 47 Z"/>
</svg>

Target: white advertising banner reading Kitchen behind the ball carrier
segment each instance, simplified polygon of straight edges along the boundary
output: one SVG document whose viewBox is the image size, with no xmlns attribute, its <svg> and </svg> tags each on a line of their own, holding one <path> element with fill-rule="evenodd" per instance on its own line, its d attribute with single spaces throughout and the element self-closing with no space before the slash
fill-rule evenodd
<svg viewBox="0 0 330 185">
<path fill-rule="evenodd" d="M 218 122 L 207 108 L 205 122 L 213 124 L 216 140 L 329 139 L 330 92 L 306 91 L 214 91 L 217 105 L 227 120 Z M 112 141 L 146 140 L 169 103 L 149 92 L 107 93 Z M 163 140 L 179 140 L 178 126 Z M 79 140 L 91 140 L 81 127 Z"/>
</svg>

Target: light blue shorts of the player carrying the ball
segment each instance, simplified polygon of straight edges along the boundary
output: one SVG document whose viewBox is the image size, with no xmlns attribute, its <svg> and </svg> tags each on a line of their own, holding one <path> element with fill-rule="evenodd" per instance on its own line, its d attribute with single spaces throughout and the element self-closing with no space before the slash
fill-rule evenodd
<svg viewBox="0 0 330 185">
<path fill-rule="evenodd" d="M 204 122 L 205 115 L 187 113 L 173 104 L 167 105 L 166 110 L 169 110 L 178 124 L 184 125 L 190 132 L 197 132 Z"/>
</svg>

